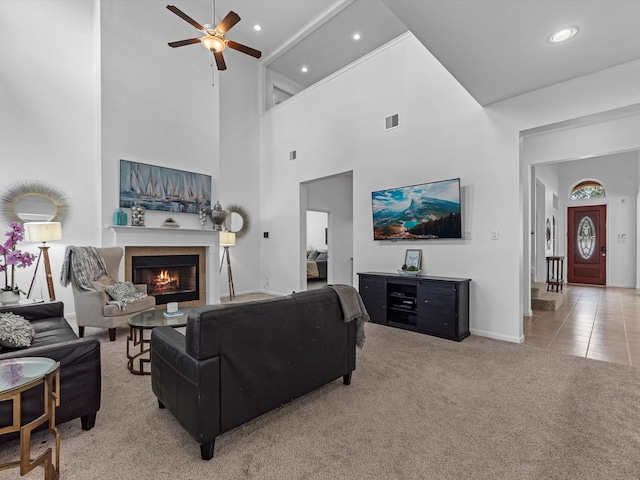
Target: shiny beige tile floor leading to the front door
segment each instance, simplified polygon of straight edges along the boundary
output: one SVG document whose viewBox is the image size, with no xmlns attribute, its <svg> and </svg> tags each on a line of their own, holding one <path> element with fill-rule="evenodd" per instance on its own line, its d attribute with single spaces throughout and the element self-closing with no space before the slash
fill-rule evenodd
<svg viewBox="0 0 640 480">
<path fill-rule="evenodd" d="M 640 296 L 632 288 L 565 285 L 555 312 L 524 317 L 525 345 L 640 367 Z"/>
</svg>

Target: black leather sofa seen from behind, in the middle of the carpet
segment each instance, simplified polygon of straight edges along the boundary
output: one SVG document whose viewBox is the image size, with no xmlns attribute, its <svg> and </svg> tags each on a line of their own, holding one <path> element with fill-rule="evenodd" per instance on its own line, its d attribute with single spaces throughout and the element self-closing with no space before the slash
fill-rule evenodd
<svg viewBox="0 0 640 480">
<path fill-rule="evenodd" d="M 343 377 L 356 366 L 356 322 L 345 322 L 335 291 L 319 289 L 189 313 L 186 335 L 151 334 L 151 385 L 213 457 L 215 438 Z"/>
</svg>

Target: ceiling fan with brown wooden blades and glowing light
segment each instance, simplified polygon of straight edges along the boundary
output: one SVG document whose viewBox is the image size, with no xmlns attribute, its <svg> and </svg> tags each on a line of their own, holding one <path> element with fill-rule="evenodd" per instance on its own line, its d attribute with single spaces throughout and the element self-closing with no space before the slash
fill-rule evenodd
<svg viewBox="0 0 640 480">
<path fill-rule="evenodd" d="M 204 48 L 210 50 L 213 53 L 213 57 L 216 61 L 216 66 L 218 70 L 226 70 L 227 64 L 224 61 L 224 57 L 222 56 L 222 51 L 226 48 L 232 48 L 233 50 L 238 50 L 239 52 L 246 53 L 247 55 L 251 55 L 255 58 L 260 58 L 262 53 L 259 50 L 256 50 L 251 47 L 247 47 L 246 45 L 242 45 L 241 43 L 234 42 L 233 40 L 227 40 L 224 36 L 225 34 L 231 30 L 236 23 L 240 21 L 240 16 L 235 12 L 229 12 L 226 17 L 222 19 L 218 25 L 215 27 L 206 23 L 200 25 L 189 15 L 184 13 L 179 8 L 173 5 L 167 5 L 167 8 L 171 10 L 173 13 L 178 15 L 180 18 L 190 23 L 198 30 L 200 30 L 204 35 L 200 38 L 190 38 L 188 40 L 179 40 L 177 42 L 169 42 L 169 46 L 172 48 L 176 47 L 184 47 L 185 45 L 192 45 L 195 43 L 201 43 Z"/>
</svg>

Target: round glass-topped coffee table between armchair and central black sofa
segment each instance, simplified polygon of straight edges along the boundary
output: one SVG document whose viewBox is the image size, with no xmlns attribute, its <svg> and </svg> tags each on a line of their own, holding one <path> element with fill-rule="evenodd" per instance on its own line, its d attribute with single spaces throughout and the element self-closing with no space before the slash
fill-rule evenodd
<svg viewBox="0 0 640 480">
<path fill-rule="evenodd" d="M 138 313 L 129 319 L 129 336 L 127 337 L 127 367 L 135 375 L 151 375 L 145 371 L 145 364 L 151 365 L 149 349 L 151 334 L 145 336 L 145 330 L 151 332 L 156 327 L 184 327 L 187 324 L 189 311 L 194 307 L 180 307 L 179 317 L 165 317 L 165 310 L 148 310 Z"/>
</svg>

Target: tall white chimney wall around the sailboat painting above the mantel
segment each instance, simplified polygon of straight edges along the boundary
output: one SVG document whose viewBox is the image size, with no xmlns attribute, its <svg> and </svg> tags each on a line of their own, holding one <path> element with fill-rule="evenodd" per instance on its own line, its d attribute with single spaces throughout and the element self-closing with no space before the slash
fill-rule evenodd
<svg viewBox="0 0 640 480">
<path fill-rule="evenodd" d="M 101 226 L 111 224 L 118 208 L 120 159 L 211 175 L 212 203 L 220 194 L 220 102 L 211 53 L 198 45 L 170 48 L 167 39 L 180 37 L 184 22 L 164 7 L 151 0 L 100 2 Z M 191 1 L 181 8 L 200 11 Z M 154 26 L 144 41 L 141 24 Z M 159 227 L 168 217 L 199 228 L 198 215 L 174 212 L 148 211 L 145 223 Z M 110 229 L 102 228 L 102 241 L 113 244 Z"/>
</svg>

